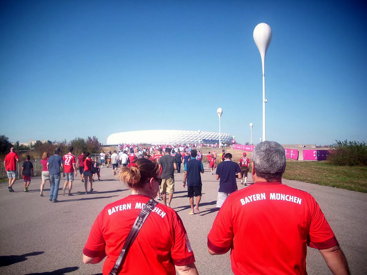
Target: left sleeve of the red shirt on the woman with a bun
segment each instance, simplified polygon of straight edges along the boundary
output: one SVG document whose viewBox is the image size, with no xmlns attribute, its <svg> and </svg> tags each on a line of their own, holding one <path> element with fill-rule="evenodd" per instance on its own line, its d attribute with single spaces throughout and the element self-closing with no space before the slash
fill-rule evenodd
<svg viewBox="0 0 367 275">
<path fill-rule="evenodd" d="M 99 226 L 100 219 L 101 214 L 99 214 L 94 221 L 88 240 L 83 248 L 83 254 L 91 258 L 102 256 L 105 253 L 106 242 L 103 238 L 101 227 Z"/>
</svg>

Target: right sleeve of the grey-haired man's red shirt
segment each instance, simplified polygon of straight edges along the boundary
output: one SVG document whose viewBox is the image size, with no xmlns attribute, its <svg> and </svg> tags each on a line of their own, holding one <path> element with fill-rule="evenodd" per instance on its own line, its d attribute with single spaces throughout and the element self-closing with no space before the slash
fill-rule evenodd
<svg viewBox="0 0 367 275">
<path fill-rule="evenodd" d="M 317 249 L 327 249 L 332 246 L 338 245 L 338 241 L 335 238 L 333 230 L 327 222 L 324 213 L 321 211 L 319 204 L 315 198 L 309 195 L 310 198 L 310 232 L 308 236 L 307 244 L 310 247 Z"/>
</svg>

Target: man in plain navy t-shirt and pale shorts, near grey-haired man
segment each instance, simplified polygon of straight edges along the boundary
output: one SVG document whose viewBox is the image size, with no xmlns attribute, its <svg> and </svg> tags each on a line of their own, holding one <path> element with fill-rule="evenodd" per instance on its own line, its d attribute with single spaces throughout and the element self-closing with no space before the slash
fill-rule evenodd
<svg viewBox="0 0 367 275">
<path fill-rule="evenodd" d="M 220 208 L 229 194 L 237 191 L 236 178 L 242 179 L 240 166 L 232 161 L 232 154 L 225 154 L 224 161 L 217 166 L 215 177 L 217 180 L 220 179 L 217 198 L 217 207 Z"/>
</svg>

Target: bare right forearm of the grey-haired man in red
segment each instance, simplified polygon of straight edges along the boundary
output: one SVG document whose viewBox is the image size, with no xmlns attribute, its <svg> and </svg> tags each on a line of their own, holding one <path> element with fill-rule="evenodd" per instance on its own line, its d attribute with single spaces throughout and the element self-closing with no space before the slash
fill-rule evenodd
<svg viewBox="0 0 367 275">
<path fill-rule="evenodd" d="M 319 251 L 334 275 L 350 274 L 348 263 L 339 245 L 328 249 L 319 249 Z"/>
</svg>

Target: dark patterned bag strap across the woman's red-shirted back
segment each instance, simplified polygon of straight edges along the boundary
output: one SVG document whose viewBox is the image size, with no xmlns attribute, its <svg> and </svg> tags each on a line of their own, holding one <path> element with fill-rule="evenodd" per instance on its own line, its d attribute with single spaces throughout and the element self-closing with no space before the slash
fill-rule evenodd
<svg viewBox="0 0 367 275">
<path fill-rule="evenodd" d="M 141 227 L 143 226 L 143 223 L 145 222 L 146 218 L 148 218 L 150 212 L 155 208 L 155 206 L 158 204 L 153 199 L 149 199 L 149 201 L 146 203 L 146 205 L 143 207 L 141 212 L 139 213 L 139 216 L 135 220 L 134 225 L 132 225 L 132 228 L 130 230 L 129 235 L 126 238 L 126 241 L 124 243 L 124 246 L 122 247 L 121 253 L 119 257 L 117 258 L 117 261 L 115 265 L 113 266 L 112 270 L 110 271 L 109 275 L 116 275 L 117 271 L 119 270 L 121 264 L 124 263 L 125 255 L 127 254 L 128 249 L 134 242 L 136 236 L 138 235 Z"/>
</svg>

